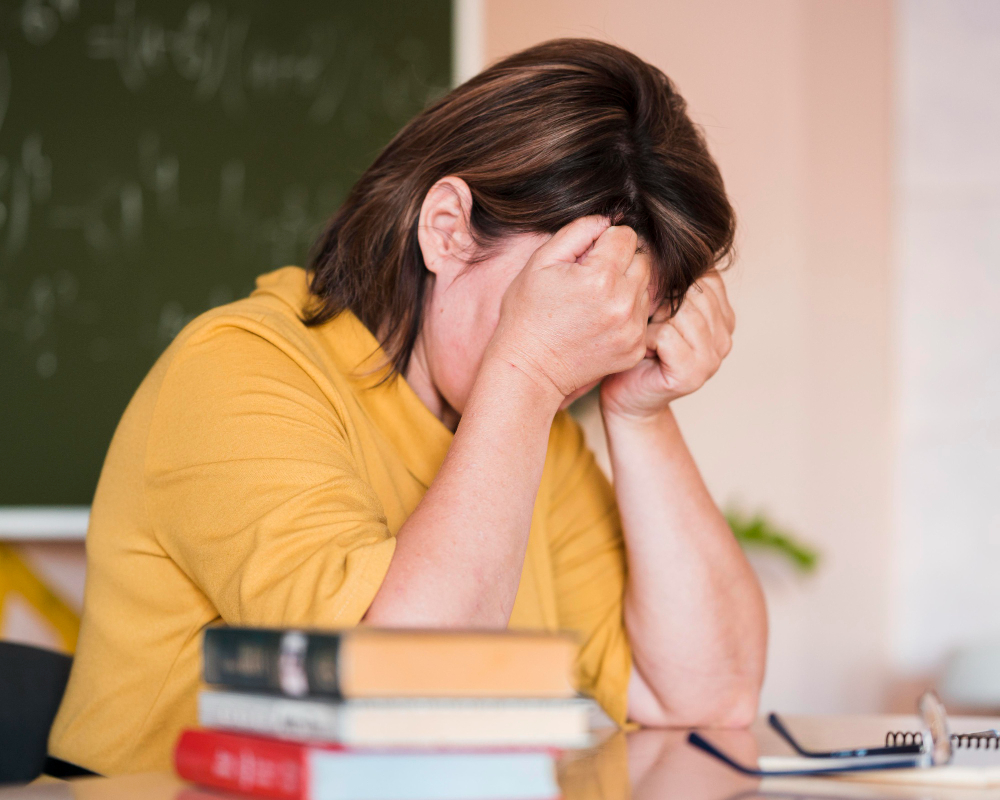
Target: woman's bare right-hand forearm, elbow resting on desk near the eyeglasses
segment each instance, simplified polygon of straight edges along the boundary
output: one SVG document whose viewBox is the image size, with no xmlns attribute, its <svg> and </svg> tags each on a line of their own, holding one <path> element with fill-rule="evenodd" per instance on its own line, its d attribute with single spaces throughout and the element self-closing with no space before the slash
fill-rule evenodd
<svg viewBox="0 0 1000 800">
<path fill-rule="evenodd" d="M 630 715 L 653 725 L 743 725 L 764 674 L 763 594 L 669 408 L 605 414 L 625 532 Z"/>
</svg>

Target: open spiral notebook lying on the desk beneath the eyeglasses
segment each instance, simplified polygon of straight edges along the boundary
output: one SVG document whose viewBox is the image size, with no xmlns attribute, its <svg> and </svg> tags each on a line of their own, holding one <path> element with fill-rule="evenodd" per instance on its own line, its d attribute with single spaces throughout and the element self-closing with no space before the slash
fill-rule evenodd
<svg viewBox="0 0 1000 800">
<path fill-rule="evenodd" d="M 886 743 L 920 743 L 920 734 L 890 733 Z M 965 786 L 985 789 L 1000 787 L 1000 736 L 996 731 L 973 734 L 952 734 L 954 755 L 951 763 L 942 767 L 876 770 L 871 772 L 843 773 L 838 781 L 861 783 L 917 784 L 923 786 Z M 761 769 L 803 769 L 810 759 L 800 756 L 761 756 Z M 780 779 L 769 779 L 780 780 Z M 825 780 L 825 779 L 823 779 Z"/>
</svg>

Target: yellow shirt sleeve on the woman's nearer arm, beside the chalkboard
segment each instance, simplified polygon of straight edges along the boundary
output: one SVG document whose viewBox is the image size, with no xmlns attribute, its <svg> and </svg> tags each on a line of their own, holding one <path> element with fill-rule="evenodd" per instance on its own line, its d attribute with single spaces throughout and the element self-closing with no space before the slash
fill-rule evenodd
<svg viewBox="0 0 1000 800">
<path fill-rule="evenodd" d="M 180 345 L 150 427 L 147 513 L 226 623 L 348 626 L 367 611 L 395 539 L 348 438 L 286 349 L 238 327 Z"/>
</svg>

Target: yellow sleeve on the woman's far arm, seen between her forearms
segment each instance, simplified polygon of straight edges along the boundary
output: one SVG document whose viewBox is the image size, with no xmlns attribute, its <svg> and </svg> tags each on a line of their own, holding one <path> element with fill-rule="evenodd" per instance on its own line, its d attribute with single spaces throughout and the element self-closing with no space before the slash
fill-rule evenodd
<svg viewBox="0 0 1000 800">
<path fill-rule="evenodd" d="M 559 623 L 581 636 L 580 690 L 624 724 L 632 651 L 622 616 L 625 544 L 618 505 L 568 414 L 557 415 L 552 437 L 549 530 Z"/>
</svg>

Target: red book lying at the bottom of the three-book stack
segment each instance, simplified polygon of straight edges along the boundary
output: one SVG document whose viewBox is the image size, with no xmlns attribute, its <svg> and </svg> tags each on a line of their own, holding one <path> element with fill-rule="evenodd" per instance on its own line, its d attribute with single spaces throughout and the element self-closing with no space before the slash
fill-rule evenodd
<svg viewBox="0 0 1000 800">
<path fill-rule="evenodd" d="M 548 800 L 552 750 L 362 750 L 218 730 L 188 730 L 177 774 L 275 800 Z"/>
</svg>

